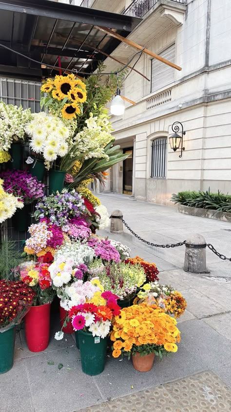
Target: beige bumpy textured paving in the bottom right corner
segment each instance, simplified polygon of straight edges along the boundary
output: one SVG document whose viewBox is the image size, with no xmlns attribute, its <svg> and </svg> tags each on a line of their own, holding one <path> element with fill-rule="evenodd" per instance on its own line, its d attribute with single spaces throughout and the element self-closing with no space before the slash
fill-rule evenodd
<svg viewBox="0 0 231 412">
<path fill-rule="evenodd" d="M 82 412 L 229 412 L 230 391 L 205 371 L 149 390 L 116 398 Z"/>
</svg>

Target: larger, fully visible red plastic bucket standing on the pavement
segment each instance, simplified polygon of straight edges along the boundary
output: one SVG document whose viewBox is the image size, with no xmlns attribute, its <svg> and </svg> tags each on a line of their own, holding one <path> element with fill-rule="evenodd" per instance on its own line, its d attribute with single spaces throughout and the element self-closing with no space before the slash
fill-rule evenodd
<svg viewBox="0 0 231 412">
<path fill-rule="evenodd" d="M 31 352 L 41 352 L 48 347 L 50 310 L 51 304 L 31 306 L 25 316 L 26 343 Z"/>
</svg>

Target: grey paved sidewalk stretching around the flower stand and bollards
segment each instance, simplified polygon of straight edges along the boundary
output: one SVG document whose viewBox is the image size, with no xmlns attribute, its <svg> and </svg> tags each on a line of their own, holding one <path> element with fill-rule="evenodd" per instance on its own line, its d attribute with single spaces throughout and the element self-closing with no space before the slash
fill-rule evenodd
<svg viewBox="0 0 231 412">
<path fill-rule="evenodd" d="M 231 256 L 231 224 L 180 215 L 173 208 L 134 201 L 128 196 L 102 194 L 109 213 L 123 212 L 132 229 L 156 243 L 172 243 L 201 233 L 219 252 Z M 171 283 L 187 299 L 179 319 L 178 352 L 154 361 L 150 372 L 135 371 L 131 361 L 107 357 L 103 373 L 82 373 L 74 336 L 54 340 L 41 353 L 27 349 L 24 331 L 17 333 L 13 369 L 0 375 L 0 412 L 228 412 L 231 386 L 231 262 L 207 251 L 208 275 L 182 270 L 184 246 L 156 249 L 128 232 L 111 239 L 128 244 L 132 256 L 154 261 L 161 283 Z M 58 369 L 62 364 L 63 368 Z"/>
</svg>

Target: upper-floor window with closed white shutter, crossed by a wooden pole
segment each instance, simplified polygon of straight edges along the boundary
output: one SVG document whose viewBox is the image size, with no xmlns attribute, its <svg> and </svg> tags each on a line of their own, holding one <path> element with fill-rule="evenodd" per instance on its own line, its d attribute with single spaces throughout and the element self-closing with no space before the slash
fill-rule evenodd
<svg viewBox="0 0 231 412">
<path fill-rule="evenodd" d="M 170 62 L 175 61 L 175 44 L 168 47 L 162 53 L 159 53 L 161 57 L 169 60 Z M 174 82 L 174 69 L 168 65 L 165 65 L 159 60 L 152 59 L 152 82 L 151 82 L 151 93 L 162 87 L 168 86 Z"/>
</svg>

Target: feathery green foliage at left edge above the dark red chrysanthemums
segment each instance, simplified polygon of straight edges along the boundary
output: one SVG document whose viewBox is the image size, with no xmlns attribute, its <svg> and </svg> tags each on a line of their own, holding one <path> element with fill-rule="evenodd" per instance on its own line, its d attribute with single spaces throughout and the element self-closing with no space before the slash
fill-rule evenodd
<svg viewBox="0 0 231 412">
<path fill-rule="evenodd" d="M 20 263 L 20 252 L 17 251 L 16 243 L 4 240 L 0 245 L 0 279 L 15 280 L 12 269 Z"/>
</svg>

